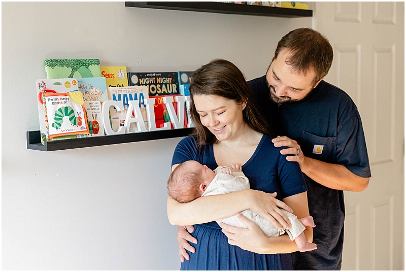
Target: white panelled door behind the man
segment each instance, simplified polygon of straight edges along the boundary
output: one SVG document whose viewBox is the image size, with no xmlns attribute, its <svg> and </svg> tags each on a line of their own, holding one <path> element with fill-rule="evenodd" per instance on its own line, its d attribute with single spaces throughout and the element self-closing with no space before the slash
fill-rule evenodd
<svg viewBox="0 0 406 272">
<path fill-rule="evenodd" d="M 403 270 L 404 2 L 317 2 L 313 27 L 334 50 L 325 80 L 358 107 L 372 174 L 344 193 L 342 269 Z"/>
</svg>

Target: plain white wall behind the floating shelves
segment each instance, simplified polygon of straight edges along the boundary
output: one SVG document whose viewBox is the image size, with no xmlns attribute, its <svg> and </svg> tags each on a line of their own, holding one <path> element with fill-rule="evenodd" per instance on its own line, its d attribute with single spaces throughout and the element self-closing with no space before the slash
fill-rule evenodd
<svg viewBox="0 0 406 272">
<path fill-rule="evenodd" d="M 35 82 L 44 59 L 99 58 L 129 72 L 195 70 L 225 58 L 253 79 L 279 39 L 311 18 L 2 3 L 2 268 L 179 269 L 166 179 L 177 139 L 42 152 Z M 11 133 L 13 131 L 13 133 Z M 84 175 L 80 175 L 84 173 Z"/>
</svg>

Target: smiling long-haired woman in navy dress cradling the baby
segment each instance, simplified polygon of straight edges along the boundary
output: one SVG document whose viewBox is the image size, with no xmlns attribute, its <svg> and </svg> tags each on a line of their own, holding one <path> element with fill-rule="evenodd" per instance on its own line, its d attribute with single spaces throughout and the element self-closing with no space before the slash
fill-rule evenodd
<svg viewBox="0 0 406 272">
<path fill-rule="evenodd" d="M 252 209 L 276 227 L 289 227 L 277 206 L 298 218 L 309 216 L 307 188 L 300 168 L 280 154 L 281 148 L 274 147 L 268 137 L 270 129 L 256 110 L 250 92 L 244 75 L 229 61 L 214 60 L 193 73 L 190 115 L 195 130 L 193 137 L 183 139 L 176 147 L 172 169 L 186 160 L 196 160 L 211 169 L 238 162 L 250 180 L 251 190 L 199 197 L 189 203 L 168 197 L 171 224 L 195 225 L 192 234 L 198 241 L 196 251 L 182 263 L 182 270 L 293 269 L 291 254 L 280 254 L 297 251 L 288 235 L 267 238 L 247 223 L 250 230 L 256 231 L 252 241 L 255 251 L 270 253 L 257 254 L 230 245 L 232 239 L 228 240 L 213 222 Z M 274 192 L 277 199 L 270 194 Z M 312 229 L 304 230 L 304 234 L 311 242 Z M 250 244 L 248 241 L 247 249 Z"/>
</svg>

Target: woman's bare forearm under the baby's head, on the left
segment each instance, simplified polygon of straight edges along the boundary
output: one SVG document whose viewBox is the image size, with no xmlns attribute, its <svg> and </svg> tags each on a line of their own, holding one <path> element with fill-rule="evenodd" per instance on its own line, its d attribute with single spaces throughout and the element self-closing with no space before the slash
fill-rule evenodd
<svg viewBox="0 0 406 272">
<path fill-rule="evenodd" d="M 168 219 L 179 226 L 207 223 L 250 209 L 250 199 L 250 190 L 199 197 L 189 203 L 168 197 Z"/>
</svg>

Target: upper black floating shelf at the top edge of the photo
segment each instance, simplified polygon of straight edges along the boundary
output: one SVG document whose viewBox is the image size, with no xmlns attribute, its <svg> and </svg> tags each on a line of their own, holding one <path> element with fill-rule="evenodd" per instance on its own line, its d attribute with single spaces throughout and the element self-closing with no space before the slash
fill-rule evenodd
<svg viewBox="0 0 406 272">
<path fill-rule="evenodd" d="M 124 5 L 125 7 L 134 8 L 214 12 L 285 18 L 313 16 L 312 10 L 263 7 L 218 2 L 124 2 Z"/>
</svg>

